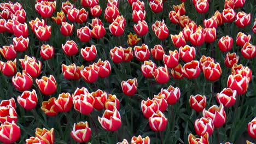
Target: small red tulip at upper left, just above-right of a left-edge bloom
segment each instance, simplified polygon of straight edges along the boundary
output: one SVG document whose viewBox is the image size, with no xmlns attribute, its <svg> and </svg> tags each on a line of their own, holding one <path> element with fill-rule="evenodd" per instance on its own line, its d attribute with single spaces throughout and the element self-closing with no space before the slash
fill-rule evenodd
<svg viewBox="0 0 256 144">
<path fill-rule="evenodd" d="M 13 38 L 14 49 L 19 52 L 26 51 L 29 41 L 30 39 L 24 38 L 22 37 L 22 35 L 19 38 L 14 37 Z"/>
</svg>

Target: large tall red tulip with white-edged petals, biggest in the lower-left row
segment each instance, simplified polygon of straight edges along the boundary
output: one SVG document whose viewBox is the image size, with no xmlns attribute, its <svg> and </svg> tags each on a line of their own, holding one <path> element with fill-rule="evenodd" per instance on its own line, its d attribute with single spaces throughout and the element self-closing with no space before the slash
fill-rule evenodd
<svg viewBox="0 0 256 144">
<path fill-rule="evenodd" d="M 77 88 L 72 95 L 74 109 L 82 113 L 83 115 L 88 115 L 94 110 L 92 102 L 94 97 L 88 92 L 86 88 Z"/>
</svg>

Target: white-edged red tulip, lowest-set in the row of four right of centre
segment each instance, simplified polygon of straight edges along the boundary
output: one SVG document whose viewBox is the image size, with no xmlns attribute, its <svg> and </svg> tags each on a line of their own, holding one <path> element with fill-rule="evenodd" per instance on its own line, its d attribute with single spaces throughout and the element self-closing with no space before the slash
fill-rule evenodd
<svg viewBox="0 0 256 144">
<path fill-rule="evenodd" d="M 177 50 L 169 51 L 169 55 L 163 56 L 165 65 L 168 68 L 175 68 L 179 64 L 179 53 Z"/>
</svg>

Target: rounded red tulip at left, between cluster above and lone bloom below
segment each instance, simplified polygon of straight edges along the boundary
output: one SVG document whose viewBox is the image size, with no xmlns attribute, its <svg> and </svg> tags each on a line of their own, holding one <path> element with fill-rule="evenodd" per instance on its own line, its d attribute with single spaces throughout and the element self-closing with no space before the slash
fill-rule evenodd
<svg viewBox="0 0 256 144">
<path fill-rule="evenodd" d="M 21 73 L 17 73 L 16 76 L 13 76 L 13 79 L 11 79 L 13 82 L 13 85 L 15 88 L 17 88 L 19 91 L 26 91 L 32 87 L 33 79 L 32 77 L 27 74 L 25 70 Z"/>
</svg>

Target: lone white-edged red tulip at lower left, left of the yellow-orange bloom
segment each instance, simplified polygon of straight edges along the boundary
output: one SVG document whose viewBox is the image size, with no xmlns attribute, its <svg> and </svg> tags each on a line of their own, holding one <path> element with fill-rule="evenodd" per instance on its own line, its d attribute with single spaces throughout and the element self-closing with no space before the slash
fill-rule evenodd
<svg viewBox="0 0 256 144">
<path fill-rule="evenodd" d="M 37 105 L 37 93 L 34 89 L 32 92 L 24 91 L 18 96 L 17 101 L 25 110 L 32 110 Z"/>
</svg>

